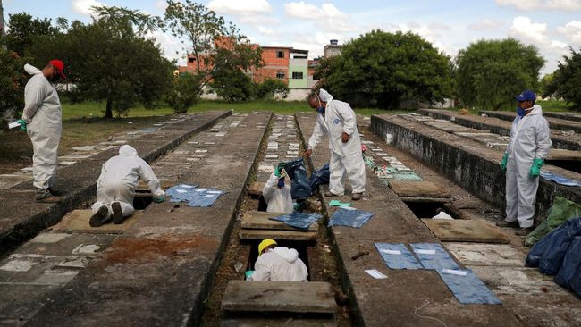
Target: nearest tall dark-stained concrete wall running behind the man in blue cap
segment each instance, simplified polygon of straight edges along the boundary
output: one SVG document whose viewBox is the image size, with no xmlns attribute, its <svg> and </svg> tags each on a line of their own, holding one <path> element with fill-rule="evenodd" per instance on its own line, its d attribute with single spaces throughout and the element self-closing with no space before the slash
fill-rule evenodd
<svg viewBox="0 0 581 327">
<path fill-rule="evenodd" d="M 501 151 L 397 116 L 373 115 L 371 130 L 383 139 L 385 134 L 392 134 L 396 147 L 416 156 L 484 201 L 498 207 L 506 205 L 505 174 L 498 164 Z M 580 174 L 552 165 L 545 165 L 543 170 L 581 180 Z M 536 200 L 536 223 L 543 220 L 555 196 L 581 203 L 580 188 L 541 179 Z"/>
</svg>

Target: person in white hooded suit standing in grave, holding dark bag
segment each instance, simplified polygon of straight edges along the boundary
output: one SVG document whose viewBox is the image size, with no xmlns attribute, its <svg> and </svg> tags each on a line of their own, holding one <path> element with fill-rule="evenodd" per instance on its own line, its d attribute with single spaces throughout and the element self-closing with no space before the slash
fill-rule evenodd
<svg viewBox="0 0 581 327">
<path fill-rule="evenodd" d="M 268 204 L 266 211 L 269 213 L 292 213 L 292 197 L 290 197 L 290 185 L 284 182 L 287 174 L 284 172 L 284 164 L 274 167 L 274 172 L 262 189 L 262 196 Z"/>
</svg>

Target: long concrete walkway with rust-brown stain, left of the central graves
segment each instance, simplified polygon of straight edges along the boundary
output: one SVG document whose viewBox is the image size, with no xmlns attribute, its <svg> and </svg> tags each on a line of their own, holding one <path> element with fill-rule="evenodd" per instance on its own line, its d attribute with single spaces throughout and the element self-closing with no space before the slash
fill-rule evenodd
<svg viewBox="0 0 581 327">
<path fill-rule="evenodd" d="M 178 180 L 226 191 L 213 206 L 149 205 L 27 324 L 199 325 L 270 118 L 248 115 Z"/>
</svg>

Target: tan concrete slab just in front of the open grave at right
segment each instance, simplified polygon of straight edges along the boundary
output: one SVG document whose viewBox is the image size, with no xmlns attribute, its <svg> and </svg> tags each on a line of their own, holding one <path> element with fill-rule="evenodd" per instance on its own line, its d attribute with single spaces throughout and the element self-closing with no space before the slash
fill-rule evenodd
<svg viewBox="0 0 581 327">
<path fill-rule="evenodd" d="M 501 229 L 481 220 L 422 219 L 422 222 L 441 241 L 510 243 L 509 236 Z"/>
</svg>

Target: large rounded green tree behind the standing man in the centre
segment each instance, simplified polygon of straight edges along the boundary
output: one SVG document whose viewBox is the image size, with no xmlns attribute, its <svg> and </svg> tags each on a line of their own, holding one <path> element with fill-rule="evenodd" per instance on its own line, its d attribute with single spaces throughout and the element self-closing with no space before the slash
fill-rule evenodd
<svg viewBox="0 0 581 327">
<path fill-rule="evenodd" d="M 433 103 L 452 92 L 450 58 L 413 33 L 373 30 L 324 60 L 321 87 L 354 105 L 397 108 L 403 101 Z"/>
</svg>

